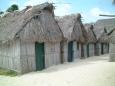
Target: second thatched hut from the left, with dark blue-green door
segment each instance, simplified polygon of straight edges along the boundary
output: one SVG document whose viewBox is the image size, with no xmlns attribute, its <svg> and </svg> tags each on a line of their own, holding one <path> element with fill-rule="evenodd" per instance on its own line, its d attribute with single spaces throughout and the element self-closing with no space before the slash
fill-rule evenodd
<svg viewBox="0 0 115 86">
<path fill-rule="evenodd" d="M 66 40 L 63 57 L 68 57 L 68 61 L 73 61 L 73 58 L 84 57 L 84 44 L 87 41 L 87 32 L 81 21 L 81 14 L 66 15 L 58 18 L 57 22 Z"/>
</svg>

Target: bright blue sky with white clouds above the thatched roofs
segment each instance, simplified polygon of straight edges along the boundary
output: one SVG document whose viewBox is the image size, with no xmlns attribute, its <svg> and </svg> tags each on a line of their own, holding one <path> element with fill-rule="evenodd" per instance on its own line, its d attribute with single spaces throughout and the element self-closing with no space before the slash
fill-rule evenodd
<svg viewBox="0 0 115 86">
<path fill-rule="evenodd" d="M 105 18 L 98 16 L 99 14 L 115 14 L 112 0 L 0 0 L 0 10 L 5 11 L 12 4 L 18 4 L 21 10 L 27 5 L 37 5 L 46 1 L 55 3 L 56 16 L 81 13 L 84 23 Z"/>
</svg>

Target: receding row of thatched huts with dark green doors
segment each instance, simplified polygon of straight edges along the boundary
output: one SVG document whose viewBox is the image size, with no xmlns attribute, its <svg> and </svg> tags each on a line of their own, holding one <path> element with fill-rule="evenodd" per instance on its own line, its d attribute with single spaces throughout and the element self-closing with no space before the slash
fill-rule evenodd
<svg viewBox="0 0 115 86">
<path fill-rule="evenodd" d="M 56 18 L 50 3 L 0 17 L 0 67 L 18 73 L 42 70 L 109 52 L 106 28 L 82 24 L 81 15 Z"/>
</svg>

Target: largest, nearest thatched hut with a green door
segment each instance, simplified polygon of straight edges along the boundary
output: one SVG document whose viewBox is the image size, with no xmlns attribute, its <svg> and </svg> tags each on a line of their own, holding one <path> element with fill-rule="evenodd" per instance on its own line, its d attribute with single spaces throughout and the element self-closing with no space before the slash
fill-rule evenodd
<svg viewBox="0 0 115 86">
<path fill-rule="evenodd" d="M 0 67 L 26 73 L 60 63 L 62 31 L 53 5 L 28 6 L 0 18 Z"/>
</svg>

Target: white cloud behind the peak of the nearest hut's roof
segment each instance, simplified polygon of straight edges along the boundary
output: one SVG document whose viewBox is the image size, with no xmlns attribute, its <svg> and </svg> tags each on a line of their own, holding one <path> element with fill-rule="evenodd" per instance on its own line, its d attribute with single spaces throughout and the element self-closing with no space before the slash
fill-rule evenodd
<svg viewBox="0 0 115 86">
<path fill-rule="evenodd" d="M 24 3 L 21 9 L 27 5 L 33 6 L 44 2 L 55 3 L 54 5 L 56 6 L 56 9 L 54 10 L 54 13 L 56 16 L 64 16 L 70 13 L 71 5 L 67 4 L 66 0 L 28 0 L 26 3 Z"/>
</svg>

